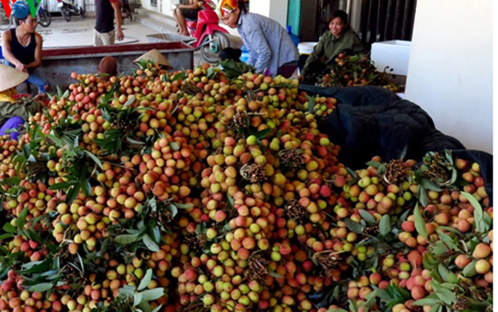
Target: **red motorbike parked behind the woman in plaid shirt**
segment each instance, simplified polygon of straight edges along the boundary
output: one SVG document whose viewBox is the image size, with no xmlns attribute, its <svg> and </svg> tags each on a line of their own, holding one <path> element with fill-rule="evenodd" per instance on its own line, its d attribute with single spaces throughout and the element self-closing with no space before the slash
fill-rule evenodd
<svg viewBox="0 0 498 312">
<path fill-rule="evenodd" d="M 216 63 L 218 55 L 224 48 L 230 47 L 228 31 L 220 26 L 220 18 L 215 12 L 216 4 L 203 0 L 204 9 L 197 14 L 197 20 L 186 20 L 187 28 L 197 41 L 195 48 L 200 48 L 202 57 L 209 63 Z"/>
</svg>

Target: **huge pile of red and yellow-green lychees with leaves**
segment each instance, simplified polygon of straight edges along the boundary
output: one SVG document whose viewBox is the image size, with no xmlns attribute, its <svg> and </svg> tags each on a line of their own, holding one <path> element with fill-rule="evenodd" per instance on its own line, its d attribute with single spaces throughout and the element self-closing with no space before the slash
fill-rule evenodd
<svg viewBox="0 0 498 312">
<path fill-rule="evenodd" d="M 424 199 L 413 160 L 339 163 L 318 130 L 337 101 L 296 80 L 151 63 L 72 78 L 0 142 L 1 311 L 415 312 L 491 294 L 477 164 L 454 159 L 468 184 Z M 453 276 L 467 288 L 441 300 Z"/>
</svg>

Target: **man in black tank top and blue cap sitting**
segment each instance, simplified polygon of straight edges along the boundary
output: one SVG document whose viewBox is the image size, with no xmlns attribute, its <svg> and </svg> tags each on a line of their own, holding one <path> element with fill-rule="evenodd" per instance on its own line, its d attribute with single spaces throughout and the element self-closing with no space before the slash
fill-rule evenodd
<svg viewBox="0 0 498 312">
<path fill-rule="evenodd" d="M 39 93 L 45 93 L 46 83 L 33 73 L 41 65 L 42 38 L 36 32 L 36 16 L 32 16 L 26 1 L 12 4 L 12 16 L 17 27 L 1 34 L 1 51 L 7 65 L 29 74 L 27 82 L 35 84 Z"/>
</svg>

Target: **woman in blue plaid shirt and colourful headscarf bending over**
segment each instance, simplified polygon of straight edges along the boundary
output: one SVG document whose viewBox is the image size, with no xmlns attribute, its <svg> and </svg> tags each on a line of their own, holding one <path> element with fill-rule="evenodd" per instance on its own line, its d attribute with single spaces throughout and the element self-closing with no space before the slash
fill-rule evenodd
<svg viewBox="0 0 498 312">
<path fill-rule="evenodd" d="M 225 25 L 237 28 L 249 49 L 247 63 L 259 73 L 289 78 L 297 68 L 299 52 L 287 31 L 275 20 L 248 13 L 243 1 L 221 0 L 218 14 Z"/>
</svg>

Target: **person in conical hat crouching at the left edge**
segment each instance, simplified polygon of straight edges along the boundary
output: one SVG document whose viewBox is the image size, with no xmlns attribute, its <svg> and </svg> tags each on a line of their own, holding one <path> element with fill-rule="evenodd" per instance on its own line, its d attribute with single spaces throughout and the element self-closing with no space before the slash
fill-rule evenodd
<svg viewBox="0 0 498 312">
<path fill-rule="evenodd" d="M 40 101 L 32 101 L 28 105 L 15 101 L 15 87 L 26 81 L 28 76 L 27 73 L 0 64 L 0 136 L 4 136 L 6 130 L 18 128 L 42 108 Z M 17 140 L 17 132 L 11 133 L 10 138 Z"/>
</svg>

